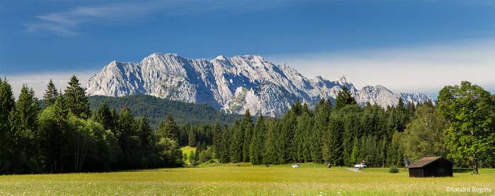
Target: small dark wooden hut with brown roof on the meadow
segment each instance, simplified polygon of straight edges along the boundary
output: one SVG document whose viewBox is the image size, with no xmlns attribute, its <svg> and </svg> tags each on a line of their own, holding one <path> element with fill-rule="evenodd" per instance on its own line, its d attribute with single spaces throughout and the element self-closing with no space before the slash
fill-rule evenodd
<svg viewBox="0 0 495 196">
<path fill-rule="evenodd" d="M 409 177 L 452 176 L 453 161 L 443 157 L 424 157 L 407 166 Z"/>
</svg>

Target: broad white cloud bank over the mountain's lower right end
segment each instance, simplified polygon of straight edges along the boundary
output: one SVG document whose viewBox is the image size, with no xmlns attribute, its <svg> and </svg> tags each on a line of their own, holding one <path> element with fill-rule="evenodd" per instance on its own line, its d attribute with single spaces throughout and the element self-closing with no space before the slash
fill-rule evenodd
<svg viewBox="0 0 495 196">
<path fill-rule="evenodd" d="M 435 95 L 445 85 L 468 80 L 495 90 L 495 42 L 477 40 L 421 47 L 269 56 L 306 77 L 333 80 L 345 75 L 356 85 L 384 85 L 395 92 Z"/>
</svg>

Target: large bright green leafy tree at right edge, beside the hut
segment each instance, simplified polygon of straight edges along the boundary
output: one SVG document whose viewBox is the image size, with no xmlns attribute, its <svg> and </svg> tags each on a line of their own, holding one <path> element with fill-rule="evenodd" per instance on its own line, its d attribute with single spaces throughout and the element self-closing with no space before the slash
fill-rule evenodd
<svg viewBox="0 0 495 196">
<path fill-rule="evenodd" d="M 438 113 L 450 121 L 445 145 L 450 156 L 469 159 L 478 173 L 481 157 L 495 152 L 495 103 L 491 94 L 478 85 L 462 81 L 438 92 Z"/>
</svg>

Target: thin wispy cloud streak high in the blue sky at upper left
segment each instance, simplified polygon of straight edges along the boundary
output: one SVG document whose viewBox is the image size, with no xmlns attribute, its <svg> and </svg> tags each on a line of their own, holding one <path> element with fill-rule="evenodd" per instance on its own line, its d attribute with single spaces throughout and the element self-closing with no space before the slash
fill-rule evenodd
<svg viewBox="0 0 495 196">
<path fill-rule="evenodd" d="M 259 11 L 274 6 L 284 6 L 287 0 L 173 0 L 138 1 L 76 6 L 65 11 L 45 13 L 36 16 L 35 21 L 26 24 L 30 32 L 47 31 L 61 36 L 77 35 L 81 25 L 86 23 L 128 22 L 154 14 L 161 16 L 200 14 L 225 10 L 223 13 Z"/>
</svg>

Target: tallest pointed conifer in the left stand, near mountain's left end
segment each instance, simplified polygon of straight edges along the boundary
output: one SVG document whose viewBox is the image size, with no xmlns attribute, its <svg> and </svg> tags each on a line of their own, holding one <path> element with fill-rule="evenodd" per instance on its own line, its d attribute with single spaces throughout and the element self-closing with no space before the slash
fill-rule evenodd
<svg viewBox="0 0 495 196">
<path fill-rule="evenodd" d="M 79 83 L 76 75 L 72 75 L 68 84 L 69 86 L 66 87 L 65 96 L 69 111 L 80 118 L 88 118 L 90 116 L 88 97 L 86 97 L 86 92 L 81 87 L 81 83 Z"/>
</svg>

